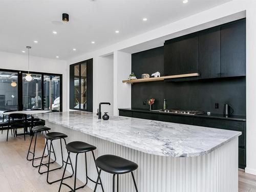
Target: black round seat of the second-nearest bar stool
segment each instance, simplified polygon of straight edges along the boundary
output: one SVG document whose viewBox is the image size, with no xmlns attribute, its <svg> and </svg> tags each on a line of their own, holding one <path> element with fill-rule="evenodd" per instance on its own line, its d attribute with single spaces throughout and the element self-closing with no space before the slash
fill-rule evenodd
<svg viewBox="0 0 256 192">
<path fill-rule="evenodd" d="M 69 152 L 72 153 L 85 153 L 96 150 L 96 146 L 90 145 L 82 141 L 73 141 L 66 145 Z"/>
</svg>

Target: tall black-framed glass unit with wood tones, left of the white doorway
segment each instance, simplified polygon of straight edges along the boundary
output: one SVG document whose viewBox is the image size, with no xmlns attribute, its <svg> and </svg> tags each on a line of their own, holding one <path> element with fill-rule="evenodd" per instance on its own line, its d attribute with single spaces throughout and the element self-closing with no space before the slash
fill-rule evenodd
<svg viewBox="0 0 256 192">
<path fill-rule="evenodd" d="M 93 59 L 70 66 L 70 109 L 92 111 Z"/>
</svg>

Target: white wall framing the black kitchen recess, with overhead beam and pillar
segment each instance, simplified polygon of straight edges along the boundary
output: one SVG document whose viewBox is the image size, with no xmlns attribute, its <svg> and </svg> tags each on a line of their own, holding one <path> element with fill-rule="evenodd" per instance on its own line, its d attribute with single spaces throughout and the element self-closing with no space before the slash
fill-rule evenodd
<svg viewBox="0 0 256 192">
<path fill-rule="evenodd" d="M 127 98 L 125 94 L 129 92 L 129 86 L 125 83 L 121 84 L 120 80 L 125 78 L 125 75 L 128 75 L 130 72 L 127 71 L 129 63 L 131 60 L 127 56 L 127 60 L 124 61 L 120 57 L 120 51 L 122 52 L 138 52 L 153 47 L 163 45 L 164 40 L 173 38 L 179 35 L 188 34 L 191 32 L 199 31 L 216 25 L 230 22 L 231 20 L 239 19 L 246 16 L 247 31 L 246 31 L 246 110 L 247 110 L 247 167 L 246 172 L 256 175 L 256 118 L 255 109 L 255 93 L 256 93 L 256 1 L 255 0 L 233 0 L 232 2 L 223 4 L 221 6 L 203 11 L 201 13 L 186 17 L 184 19 L 178 20 L 172 24 L 157 28 L 152 31 L 148 31 L 141 35 L 126 39 L 124 41 L 118 42 L 117 44 L 111 45 L 99 49 L 94 52 L 83 54 L 79 57 L 72 58 L 68 61 L 69 64 L 86 60 L 89 58 L 94 58 L 97 60 L 97 57 L 109 53 L 114 53 L 114 114 L 118 106 L 128 106 L 124 104 Z M 97 61 L 94 62 L 95 68 L 97 69 Z M 131 64 L 130 64 L 131 65 Z M 123 73 L 118 75 L 118 72 L 121 72 L 120 69 L 124 69 Z M 94 74 L 97 74 L 97 71 Z M 127 78 L 127 77 L 126 77 Z M 95 87 L 98 86 L 97 81 L 94 82 Z M 122 90 L 125 90 L 122 93 Z M 94 94 L 97 94 L 96 92 Z M 131 95 L 131 93 L 130 93 Z M 94 95 L 95 97 L 95 95 Z"/>
</svg>

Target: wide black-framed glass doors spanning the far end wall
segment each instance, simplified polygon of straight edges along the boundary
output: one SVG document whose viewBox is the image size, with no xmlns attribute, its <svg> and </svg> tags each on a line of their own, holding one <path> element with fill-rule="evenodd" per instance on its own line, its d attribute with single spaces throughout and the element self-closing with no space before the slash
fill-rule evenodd
<svg viewBox="0 0 256 192">
<path fill-rule="evenodd" d="M 62 75 L 0 69 L 0 111 L 62 111 Z"/>
</svg>

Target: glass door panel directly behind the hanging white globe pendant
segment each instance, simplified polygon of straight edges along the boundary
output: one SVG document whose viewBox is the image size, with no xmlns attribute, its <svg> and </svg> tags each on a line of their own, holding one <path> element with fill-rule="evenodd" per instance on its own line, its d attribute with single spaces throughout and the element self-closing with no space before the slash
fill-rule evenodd
<svg viewBox="0 0 256 192">
<path fill-rule="evenodd" d="M 42 107 L 42 90 L 41 90 L 41 75 L 31 74 L 32 80 L 25 79 L 26 74 L 23 74 L 23 110 L 41 109 Z"/>
</svg>

